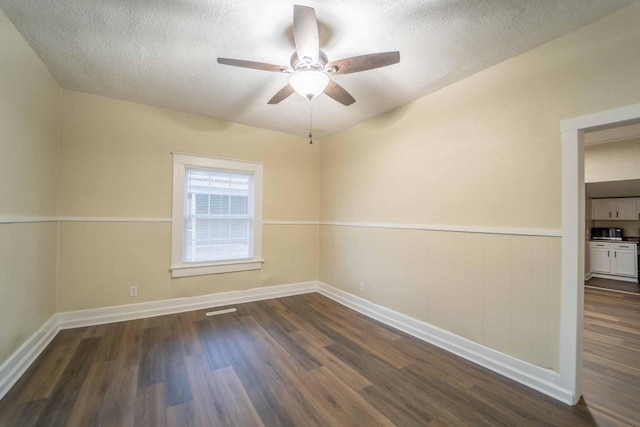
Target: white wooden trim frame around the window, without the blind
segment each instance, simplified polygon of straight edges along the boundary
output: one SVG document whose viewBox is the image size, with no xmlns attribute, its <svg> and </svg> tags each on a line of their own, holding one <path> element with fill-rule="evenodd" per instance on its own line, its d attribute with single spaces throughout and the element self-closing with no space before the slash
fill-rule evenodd
<svg viewBox="0 0 640 427">
<path fill-rule="evenodd" d="M 252 250 L 248 259 L 220 262 L 184 262 L 185 176 L 189 167 L 253 175 Z M 262 268 L 262 181 L 264 164 L 195 154 L 173 153 L 173 198 L 171 203 L 171 277 L 200 276 L 259 270 Z"/>
</svg>

